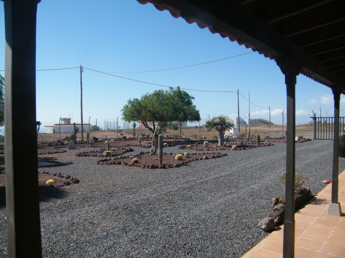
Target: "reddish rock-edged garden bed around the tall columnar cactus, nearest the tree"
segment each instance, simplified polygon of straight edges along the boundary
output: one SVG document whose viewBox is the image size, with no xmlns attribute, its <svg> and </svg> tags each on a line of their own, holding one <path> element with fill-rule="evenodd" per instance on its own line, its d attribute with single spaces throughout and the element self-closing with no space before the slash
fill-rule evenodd
<svg viewBox="0 0 345 258">
<path fill-rule="evenodd" d="M 226 153 L 212 152 L 212 153 L 189 153 L 187 158 L 182 155 L 182 160 L 176 160 L 171 155 L 172 153 L 163 154 L 163 164 L 159 165 L 158 154 L 150 155 L 149 153 L 138 154 L 135 156 L 120 157 L 120 158 L 109 158 L 97 161 L 98 165 L 122 165 L 122 166 L 133 166 L 142 169 L 167 169 L 167 168 L 178 168 L 179 166 L 187 165 L 192 161 L 216 159 L 226 156 Z M 129 158 L 131 157 L 131 158 Z M 132 163 L 132 159 L 138 159 L 137 163 Z M 156 159 L 155 159 L 156 158 Z"/>
</svg>

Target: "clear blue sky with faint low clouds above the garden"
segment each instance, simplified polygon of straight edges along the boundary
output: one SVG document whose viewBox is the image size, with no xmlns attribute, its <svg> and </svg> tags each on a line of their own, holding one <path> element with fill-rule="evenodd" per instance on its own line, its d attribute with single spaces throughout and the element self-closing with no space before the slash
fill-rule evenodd
<svg viewBox="0 0 345 258">
<path fill-rule="evenodd" d="M 2 4 L 2 3 L 1 3 Z M 0 17 L 3 17 L 0 8 Z M 2 38 L 2 39 L 1 39 Z M 4 19 L 0 19 L 0 70 L 5 62 Z M 138 72 L 198 64 L 250 52 L 207 28 L 173 18 L 152 4 L 136 0 L 42 0 L 37 10 L 36 69 L 83 67 L 110 72 Z M 6 74 L 0 71 L 5 77 Z M 110 73 L 130 79 L 188 89 L 237 91 L 248 98 L 250 118 L 282 124 L 286 110 L 284 75 L 273 60 L 257 52 L 187 68 L 150 73 Z M 130 98 L 166 87 L 150 85 L 84 69 L 83 121 L 103 128 L 104 120 L 121 121 Z M 202 119 L 237 117 L 237 93 L 187 90 Z M 341 99 L 341 108 L 345 98 Z M 36 72 L 37 120 L 59 123 L 61 117 L 80 122 L 80 68 Z M 256 104 L 257 106 L 255 106 Z M 331 89 L 297 76 L 296 124 L 308 123 L 312 110 L 333 116 Z M 239 96 L 240 116 L 248 118 L 248 101 Z M 341 116 L 345 110 L 341 110 Z M 285 118 L 286 121 L 286 118 Z M 202 123 L 202 122 L 201 122 Z M 112 125 L 113 127 L 114 125 Z M 108 125 L 109 127 L 109 125 Z"/>
</svg>

